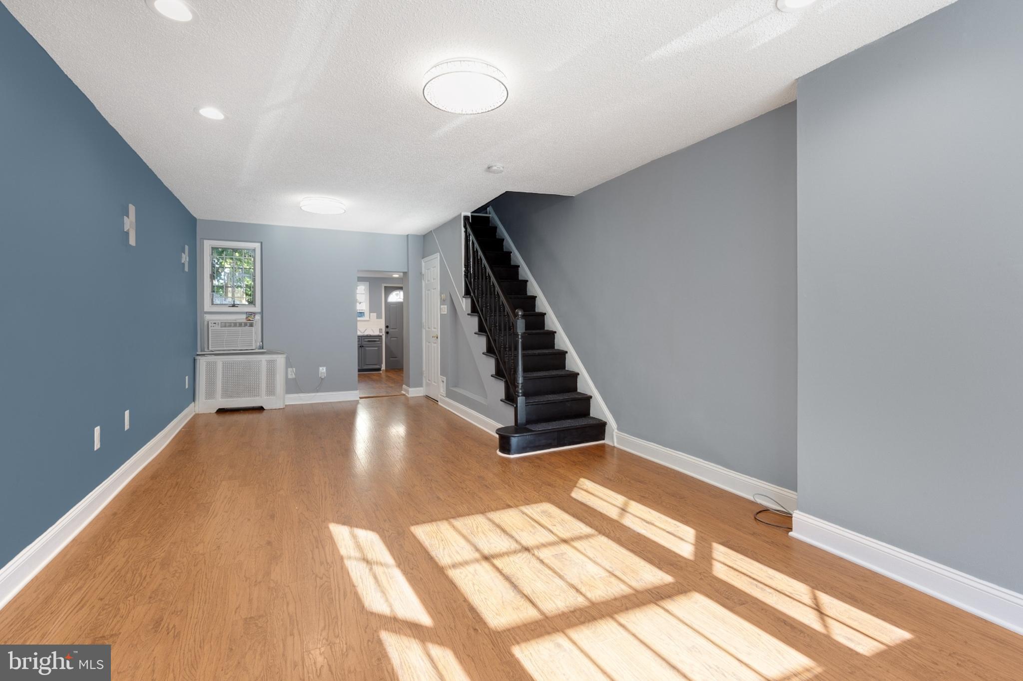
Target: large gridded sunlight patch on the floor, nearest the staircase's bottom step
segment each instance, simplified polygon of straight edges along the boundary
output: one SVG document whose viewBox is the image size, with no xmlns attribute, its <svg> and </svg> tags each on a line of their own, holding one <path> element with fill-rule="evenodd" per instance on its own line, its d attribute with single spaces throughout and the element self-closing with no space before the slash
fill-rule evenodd
<svg viewBox="0 0 1023 681">
<path fill-rule="evenodd" d="M 672 582 L 670 576 L 548 503 L 411 530 L 494 629 Z"/>
</svg>

